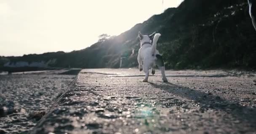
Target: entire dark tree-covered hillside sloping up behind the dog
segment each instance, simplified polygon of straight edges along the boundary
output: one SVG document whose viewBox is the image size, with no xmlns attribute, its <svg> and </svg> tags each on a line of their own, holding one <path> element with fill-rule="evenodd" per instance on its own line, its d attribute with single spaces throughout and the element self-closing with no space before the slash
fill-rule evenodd
<svg viewBox="0 0 256 134">
<path fill-rule="evenodd" d="M 256 67 L 256 32 L 248 5 L 241 0 L 184 0 L 178 8 L 169 8 L 86 49 L 0 57 L 0 66 L 6 62 L 44 61 L 51 63 L 50 67 L 117 68 L 120 58 L 125 57 L 123 67 L 135 67 L 139 31 L 162 34 L 157 49 L 163 53 L 167 68 Z"/>
</svg>

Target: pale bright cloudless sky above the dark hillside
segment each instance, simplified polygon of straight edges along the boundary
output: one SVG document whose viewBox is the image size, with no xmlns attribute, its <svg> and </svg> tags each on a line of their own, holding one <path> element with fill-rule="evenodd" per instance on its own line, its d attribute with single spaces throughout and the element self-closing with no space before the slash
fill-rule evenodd
<svg viewBox="0 0 256 134">
<path fill-rule="evenodd" d="M 0 0 L 0 56 L 71 52 L 183 0 Z"/>
</svg>

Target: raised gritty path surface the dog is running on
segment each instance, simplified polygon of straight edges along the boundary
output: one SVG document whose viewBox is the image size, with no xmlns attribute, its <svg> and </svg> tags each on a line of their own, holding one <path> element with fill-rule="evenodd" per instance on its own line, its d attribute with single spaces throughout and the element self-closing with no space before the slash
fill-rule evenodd
<svg viewBox="0 0 256 134">
<path fill-rule="evenodd" d="M 255 134 L 255 73 L 82 70 L 31 134 Z"/>
</svg>

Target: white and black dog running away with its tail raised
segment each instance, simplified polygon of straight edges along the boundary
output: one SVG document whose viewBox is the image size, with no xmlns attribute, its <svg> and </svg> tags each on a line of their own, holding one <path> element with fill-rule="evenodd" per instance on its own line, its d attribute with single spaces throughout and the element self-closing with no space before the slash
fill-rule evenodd
<svg viewBox="0 0 256 134">
<path fill-rule="evenodd" d="M 138 62 L 139 70 L 145 72 L 145 78 L 143 82 L 147 82 L 149 78 L 149 69 L 151 69 L 152 75 L 155 74 L 155 66 L 157 65 L 161 70 L 163 82 L 168 82 L 165 77 L 165 66 L 163 57 L 159 54 L 156 49 L 157 41 L 161 36 L 160 33 L 153 33 L 151 35 L 142 35 L 139 32 L 139 39 L 141 48 L 139 49 Z M 153 40 L 153 41 L 152 41 Z"/>
</svg>

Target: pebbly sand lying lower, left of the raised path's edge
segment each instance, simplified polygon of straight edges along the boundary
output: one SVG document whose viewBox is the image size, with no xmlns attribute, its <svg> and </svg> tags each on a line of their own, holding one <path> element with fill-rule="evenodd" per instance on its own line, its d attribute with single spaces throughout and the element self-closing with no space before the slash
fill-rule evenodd
<svg viewBox="0 0 256 134">
<path fill-rule="evenodd" d="M 47 73 L 0 75 L 0 134 L 27 134 L 75 78 Z"/>
</svg>

